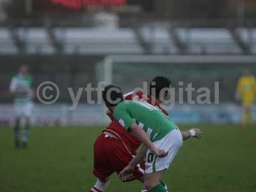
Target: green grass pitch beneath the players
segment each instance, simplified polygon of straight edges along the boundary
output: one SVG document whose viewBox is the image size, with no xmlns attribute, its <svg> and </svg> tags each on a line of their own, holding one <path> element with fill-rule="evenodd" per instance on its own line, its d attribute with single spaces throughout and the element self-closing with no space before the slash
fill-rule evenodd
<svg viewBox="0 0 256 192">
<path fill-rule="evenodd" d="M 191 126 L 180 126 L 189 129 Z M 164 182 L 175 192 L 256 191 L 256 126 L 198 125 L 202 140 L 185 141 Z M 102 127 L 35 127 L 29 147 L 15 149 L 10 127 L 0 127 L 1 192 L 88 192 L 93 142 Z M 140 191 L 111 177 L 108 192 Z"/>
</svg>

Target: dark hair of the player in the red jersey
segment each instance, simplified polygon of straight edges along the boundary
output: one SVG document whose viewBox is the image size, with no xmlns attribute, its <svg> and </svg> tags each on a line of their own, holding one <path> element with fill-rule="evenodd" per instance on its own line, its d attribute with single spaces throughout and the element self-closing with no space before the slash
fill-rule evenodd
<svg viewBox="0 0 256 192">
<path fill-rule="evenodd" d="M 156 99 L 158 99 L 160 97 L 161 90 L 163 88 L 170 88 L 171 84 L 172 82 L 167 77 L 154 77 L 154 79 L 152 79 L 152 81 L 150 82 L 149 94 L 152 95 L 152 90 L 155 89 L 156 95 L 154 96 L 156 97 Z"/>
</svg>

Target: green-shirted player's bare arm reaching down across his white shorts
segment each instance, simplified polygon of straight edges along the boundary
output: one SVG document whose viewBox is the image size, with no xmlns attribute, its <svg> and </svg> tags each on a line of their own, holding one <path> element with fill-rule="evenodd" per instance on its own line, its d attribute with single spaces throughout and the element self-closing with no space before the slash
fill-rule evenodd
<svg viewBox="0 0 256 192">
<path fill-rule="evenodd" d="M 149 150 L 154 152 L 154 154 L 156 154 L 156 156 L 166 157 L 168 155 L 167 152 L 165 152 L 164 150 L 161 150 L 159 148 L 156 148 L 153 145 L 153 143 L 148 138 L 147 133 L 145 131 L 143 131 L 143 129 L 141 129 L 141 127 L 139 125 L 137 125 L 135 123 L 131 124 L 130 130 L 134 134 L 134 136 L 136 136 L 136 138 L 138 138 L 138 140 L 140 140 L 141 143 L 143 143 Z"/>
</svg>

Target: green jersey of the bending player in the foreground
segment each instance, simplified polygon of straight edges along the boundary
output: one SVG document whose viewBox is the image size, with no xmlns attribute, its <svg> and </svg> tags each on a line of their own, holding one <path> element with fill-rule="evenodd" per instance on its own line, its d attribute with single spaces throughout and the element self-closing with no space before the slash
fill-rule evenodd
<svg viewBox="0 0 256 192">
<path fill-rule="evenodd" d="M 116 106 L 113 116 L 127 131 L 132 123 L 140 125 L 152 142 L 163 139 L 173 129 L 179 129 L 160 109 L 148 102 L 125 100 Z"/>
</svg>

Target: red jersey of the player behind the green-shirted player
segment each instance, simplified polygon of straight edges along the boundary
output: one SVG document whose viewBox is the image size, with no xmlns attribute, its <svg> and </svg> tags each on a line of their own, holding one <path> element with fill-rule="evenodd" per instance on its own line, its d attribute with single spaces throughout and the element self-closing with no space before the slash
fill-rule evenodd
<svg viewBox="0 0 256 192">
<path fill-rule="evenodd" d="M 154 102 L 154 98 L 151 97 L 150 95 L 145 95 L 143 92 L 130 92 L 130 93 L 126 93 L 124 94 L 124 99 L 125 100 L 145 100 L 148 103 L 152 104 L 153 106 L 156 106 L 157 108 L 161 109 L 161 111 L 163 111 L 163 113 L 165 115 L 169 115 L 169 113 L 167 111 L 165 111 L 163 108 L 161 108 L 161 106 L 157 103 Z M 140 141 L 138 141 L 134 136 L 132 136 L 132 134 L 128 133 L 127 131 L 125 131 L 125 129 L 118 124 L 118 122 L 116 122 L 115 120 L 113 120 L 107 129 L 105 129 L 104 131 L 108 131 L 108 129 L 110 130 L 109 132 L 111 134 L 114 134 L 115 136 L 117 136 L 118 138 L 120 138 L 125 145 L 127 145 L 127 147 L 131 147 L 132 150 L 137 150 L 138 147 L 140 147 L 141 143 Z"/>
</svg>

